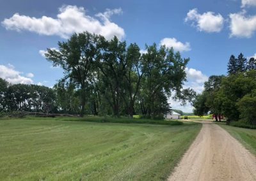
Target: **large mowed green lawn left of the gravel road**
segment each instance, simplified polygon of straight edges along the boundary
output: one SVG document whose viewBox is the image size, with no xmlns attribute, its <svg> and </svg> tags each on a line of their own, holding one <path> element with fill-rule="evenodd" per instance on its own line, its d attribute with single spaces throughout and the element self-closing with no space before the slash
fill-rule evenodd
<svg viewBox="0 0 256 181">
<path fill-rule="evenodd" d="M 0 180 L 164 180 L 200 127 L 0 120 Z"/>
</svg>

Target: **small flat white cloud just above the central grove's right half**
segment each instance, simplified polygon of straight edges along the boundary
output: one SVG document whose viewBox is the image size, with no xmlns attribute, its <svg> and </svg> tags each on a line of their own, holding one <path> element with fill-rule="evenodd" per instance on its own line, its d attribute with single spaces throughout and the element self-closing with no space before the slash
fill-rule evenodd
<svg viewBox="0 0 256 181">
<path fill-rule="evenodd" d="M 164 38 L 160 41 L 160 45 L 165 45 L 168 48 L 173 47 L 173 50 L 179 52 L 186 52 L 191 50 L 189 42 L 182 43 L 176 40 L 176 38 Z"/>
</svg>

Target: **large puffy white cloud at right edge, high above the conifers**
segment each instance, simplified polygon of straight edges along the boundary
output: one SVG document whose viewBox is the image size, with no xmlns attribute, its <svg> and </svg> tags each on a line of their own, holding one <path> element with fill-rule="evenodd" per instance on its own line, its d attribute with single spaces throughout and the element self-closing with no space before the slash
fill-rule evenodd
<svg viewBox="0 0 256 181">
<path fill-rule="evenodd" d="M 230 37 L 251 38 L 256 31 L 256 15 L 246 17 L 246 11 L 231 13 L 230 18 Z"/>
</svg>

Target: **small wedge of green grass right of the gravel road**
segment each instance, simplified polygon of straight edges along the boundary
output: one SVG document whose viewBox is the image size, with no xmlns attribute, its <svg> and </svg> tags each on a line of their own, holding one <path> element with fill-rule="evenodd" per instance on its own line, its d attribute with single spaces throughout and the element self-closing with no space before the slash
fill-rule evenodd
<svg viewBox="0 0 256 181">
<path fill-rule="evenodd" d="M 256 130 L 246 129 L 241 127 L 227 126 L 226 124 L 218 123 L 226 129 L 234 138 L 240 141 L 252 154 L 256 156 Z"/>
</svg>

